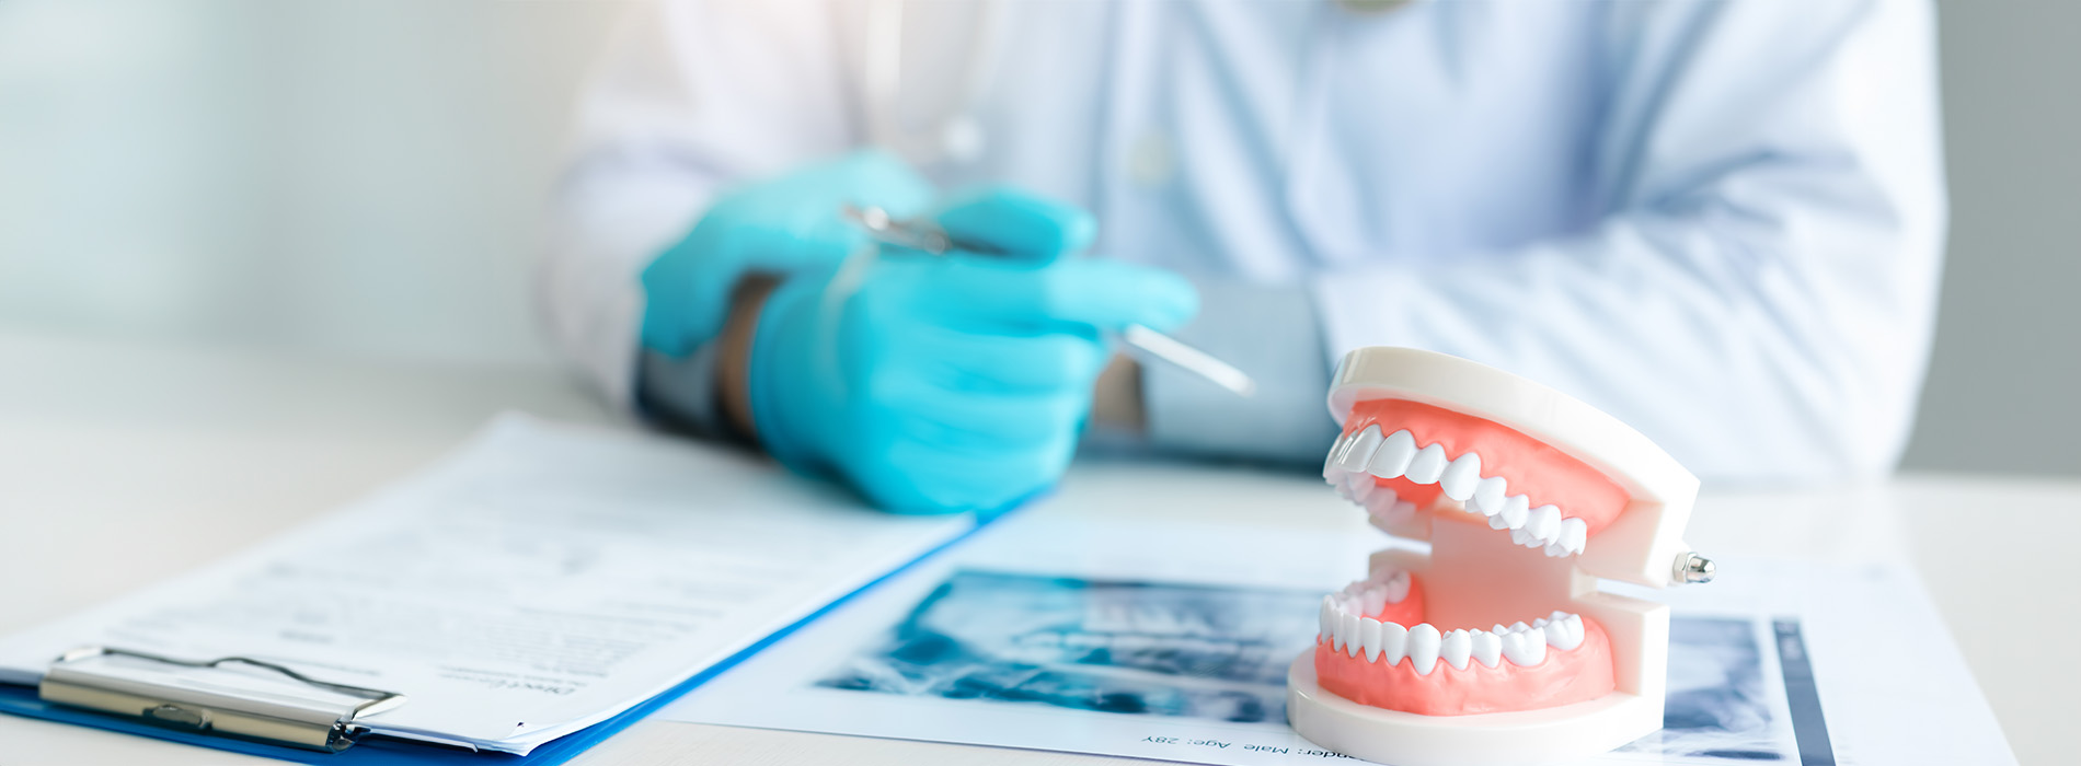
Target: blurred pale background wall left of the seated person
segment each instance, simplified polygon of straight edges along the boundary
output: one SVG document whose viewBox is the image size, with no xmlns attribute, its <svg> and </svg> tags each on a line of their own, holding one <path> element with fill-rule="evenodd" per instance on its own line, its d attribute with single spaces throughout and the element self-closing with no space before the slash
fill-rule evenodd
<svg viewBox="0 0 2081 766">
<path fill-rule="evenodd" d="M 541 362 L 614 2 L 0 2 L 0 323 Z"/>
</svg>

